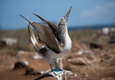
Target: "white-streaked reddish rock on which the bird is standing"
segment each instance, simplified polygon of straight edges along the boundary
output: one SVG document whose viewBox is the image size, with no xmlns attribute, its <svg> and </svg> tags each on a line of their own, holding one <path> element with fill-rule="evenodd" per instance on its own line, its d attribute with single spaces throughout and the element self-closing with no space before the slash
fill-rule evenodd
<svg viewBox="0 0 115 80">
<path fill-rule="evenodd" d="M 44 74 L 35 80 L 91 80 L 88 77 L 75 74 L 71 71 L 64 70 L 59 75 L 55 75 L 53 72 L 48 72 L 47 74 Z"/>
</svg>

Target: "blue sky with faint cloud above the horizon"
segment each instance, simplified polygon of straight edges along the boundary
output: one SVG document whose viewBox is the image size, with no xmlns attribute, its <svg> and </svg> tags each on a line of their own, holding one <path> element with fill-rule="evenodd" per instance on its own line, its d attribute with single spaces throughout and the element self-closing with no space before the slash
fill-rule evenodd
<svg viewBox="0 0 115 80">
<path fill-rule="evenodd" d="M 19 14 L 29 16 L 31 22 L 41 22 L 33 13 L 58 24 L 71 6 L 69 27 L 115 24 L 115 0 L 0 0 L 0 26 L 27 28 Z"/>
</svg>

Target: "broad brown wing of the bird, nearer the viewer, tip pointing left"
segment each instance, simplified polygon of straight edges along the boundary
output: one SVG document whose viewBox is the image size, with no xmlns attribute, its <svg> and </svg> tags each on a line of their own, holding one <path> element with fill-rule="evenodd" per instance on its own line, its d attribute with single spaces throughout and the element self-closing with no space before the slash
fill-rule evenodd
<svg viewBox="0 0 115 80">
<path fill-rule="evenodd" d="M 23 17 L 22 15 L 20 15 Z M 24 17 L 23 17 L 24 18 Z M 24 18 L 27 20 L 26 18 Z M 37 31 L 39 40 L 46 44 L 48 48 L 50 48 L 52 51 L 54 51 L 56 54 L 60 53 L 60 48 L 58 47 L 58 43 L 55 39 L 55 35 L 53 31 L 46 25 L 42 25 L 36 22 L 30 23 L 29 20 L 27 20 L 29 24 L 31 24 L 35 30 Z M 31 28 L 29 27 L 29 32 L 31 32 Z M 33 34 L 31 32 L 31 34 Z"/>
</svg>

